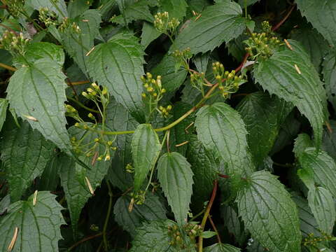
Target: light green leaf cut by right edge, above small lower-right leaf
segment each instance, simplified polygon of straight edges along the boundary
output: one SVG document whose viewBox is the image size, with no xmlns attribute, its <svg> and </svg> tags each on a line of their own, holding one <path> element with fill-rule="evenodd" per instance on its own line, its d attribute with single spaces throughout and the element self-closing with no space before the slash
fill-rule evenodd
<svg viewBox="0 0 336 252">
<path fill-rule="evenodd" d="M 316 148 L 307 148 L 299 158 L 302 169 L 313 172 L 314 182 L 328 189 L 336 197 L 336 163 L 330 155 Z"/>
</svg>

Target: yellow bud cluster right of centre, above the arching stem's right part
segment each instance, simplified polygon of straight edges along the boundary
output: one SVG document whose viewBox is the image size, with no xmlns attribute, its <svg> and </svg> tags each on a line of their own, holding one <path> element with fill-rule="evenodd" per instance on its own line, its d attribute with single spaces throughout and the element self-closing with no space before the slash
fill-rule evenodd
<svg viewBox="0 0 336 252">
<path fill-rule="evenodd" d="M 236 71 L 225 71 L 223 64 L 215 62 L 212 64 L 212 70 L 218 83 L 218 89 L 222 96 L 226 99 L 230 94 L 235 93 L 239 89 L 239 85 L 246 82 L 243 76 L 236 76 Z"/>
</svg>

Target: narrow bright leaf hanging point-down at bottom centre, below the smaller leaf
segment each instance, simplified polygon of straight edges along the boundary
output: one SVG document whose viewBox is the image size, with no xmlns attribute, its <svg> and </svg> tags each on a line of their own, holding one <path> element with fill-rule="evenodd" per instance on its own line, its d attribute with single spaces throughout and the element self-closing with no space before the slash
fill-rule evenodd
<svg viewBox="0 0 336 252">
<path fill-rule="evenodd" d="M 193 193 L 190 164 L 180 153 L 165 153 L 158 161 L 158 179 L 177 223 L 186 223 Z"/>
</svg>

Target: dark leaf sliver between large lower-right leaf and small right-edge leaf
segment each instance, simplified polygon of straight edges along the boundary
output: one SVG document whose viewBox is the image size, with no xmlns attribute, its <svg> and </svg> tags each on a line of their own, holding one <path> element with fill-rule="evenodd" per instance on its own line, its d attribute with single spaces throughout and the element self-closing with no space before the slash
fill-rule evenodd
<svg viewBox="0 0 336 252">
<path fill-rule="evenodd" d="M 318 225 L 316 220 L 309 209 L 308 202 L 303 197 L 300 197 L 296 193 L 292 194 L 292 200 L 297 206 L 297 211 L 299 212 L 300 218 L 300 230 L 304 237 L 307 237 L 309 234 L 314 234 L 315 236 L 321 236 L 321 233 L 318 231 Z"/>
</svg>

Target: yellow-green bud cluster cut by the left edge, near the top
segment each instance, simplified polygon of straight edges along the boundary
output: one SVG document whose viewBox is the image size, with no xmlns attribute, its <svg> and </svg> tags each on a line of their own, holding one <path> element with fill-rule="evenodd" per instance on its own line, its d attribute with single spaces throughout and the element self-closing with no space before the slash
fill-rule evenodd
<svg viewBox="0 0 336 252">
<path fill-rule="evenodd" d="M 25 38 L 22 32 L 16 34 L 14 31 L 4 31 L 3 37 L 0 39 L 1 48 L 10 52 L 25 55 L 26 46 L 29 43 L 29 38 Z"/>
</svg>

